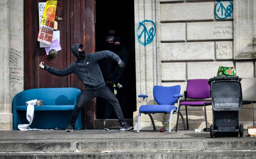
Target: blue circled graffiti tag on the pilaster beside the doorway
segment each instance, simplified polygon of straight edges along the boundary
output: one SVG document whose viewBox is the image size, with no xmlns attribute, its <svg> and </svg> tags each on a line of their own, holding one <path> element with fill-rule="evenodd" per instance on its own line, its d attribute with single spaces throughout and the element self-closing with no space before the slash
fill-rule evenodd
<svg viewBox="0 0 256 159">
<path fill-rule="evenodd" d="M 146 23 L 151 23 L 151 25 L 153 25 L 153 27 L 151 27 L 149 31 L 145 26 Z M 140 28 L 143 29 L 141 33 L 139 33 Z M 137 37 L 138 37 L 138 41 L 142 45 L 146 46 L 147 44 L 150 44 L 153 41 L 154 36 L 155 36 L 155 23 L 152 20 L 144 20 L 143 22 L 139 23 L 139 27 L 137 29 Z"/>
</svg>

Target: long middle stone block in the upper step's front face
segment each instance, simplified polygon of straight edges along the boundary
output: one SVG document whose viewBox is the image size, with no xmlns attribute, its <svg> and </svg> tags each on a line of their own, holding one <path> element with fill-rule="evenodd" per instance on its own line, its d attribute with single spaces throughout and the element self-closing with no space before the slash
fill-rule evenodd
<svg viewBox="0 0 256 159">
<path fill-rule="evenodd" d="M 79 151 L 203 151 L 203 140 L 205 139 L 81 141 L 77 142 L 77 149 Z"/>
</svg>

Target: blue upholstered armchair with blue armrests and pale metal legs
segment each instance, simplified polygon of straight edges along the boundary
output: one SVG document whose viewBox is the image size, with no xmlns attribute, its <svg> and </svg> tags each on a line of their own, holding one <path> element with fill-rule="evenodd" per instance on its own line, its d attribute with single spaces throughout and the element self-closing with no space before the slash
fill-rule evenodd
<svg viewBox="0 0 256 159">
<path fill-rule="evenodd" d="M 170 114 L 170 119 L 169 119 L 169 133 L 170 133 L 171 132 L 172 114 L 178 113 L 178 109 L 174 104 L 178 100 L 178 105 L 179 105 L 180 97 L 182 97 L 182 95 L 179 94 L 180 92 L 181 92 L 180 85 L 175 85 L 175 86 L 171 86 L 171 87 L 163 87 L 163 86 L 155 85 L 153 88 L 153 95 L 154 95 L 155 101 L 159 105 L 144 105 L 145 98 L 148 96 L 143 95 L 143 94 L 139 95 L 138 97 L 143 97 L 143 102 L 142 102 L 142 106 L 139 107 L 137 132 L 139 133 L 139 122 L 140 122 L 140 118 L 141 118 L 141 113 L 149 115 L 154 130 L 156 130 L 156 128 L 155 128 L 154 120 L 153 120 L 151 114 L 155 114 L 155 113 L 167 114 L 168 113 L 168 114 Z M 181 115 L 181 119 L 183 122 L 184 130 L 186 130 L 184 118 L 183 118 L 182 114 L 180 114 L 180 115 Z"/>
</svg>

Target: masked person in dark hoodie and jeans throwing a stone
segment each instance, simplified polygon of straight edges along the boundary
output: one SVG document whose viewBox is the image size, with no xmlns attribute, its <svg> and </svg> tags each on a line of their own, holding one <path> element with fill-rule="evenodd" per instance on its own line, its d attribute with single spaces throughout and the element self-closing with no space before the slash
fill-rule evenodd
<svg viewBox="0 0 256 159">
<path fill-rule="evenodd" d="M 118 55 L 111 51 L 99 51 L 95 53 L 85 54 L 85 50 L 82 44 L 73 45 L 71 51 L 75 55 L 75 57 L 77 57 L 77 60 L 71 63 L 71 65 L 64 70 L 54 69 L 47 66 L 45 63 L 42 63 L 44 66 L 44 68 L 42 69 L 47 70 L 51 74 L 56 76 L 66 76 L 74 73 L 85 85 L 85 89 L 83 90 L 81 96 L 78 99 L 78 102 L 72 112 L 69 125 L 66 127 L 65 132 L 73 131 L 73 127 L 75 125 L 80 110 L 87 101 L 94 97 L 105 98 L 112 104 L 115 114 L 119 119 L 121 131 L 132 130 L 133 127 L 125 122 L 117 98 L 106 86 L 98 64 L 98 61 L 103 58 L 111 58 L 116 61 L 120 67 L 124 68 L 125 64 L 123 63 L 123 61 L 118 57 Z"/>
</svg>

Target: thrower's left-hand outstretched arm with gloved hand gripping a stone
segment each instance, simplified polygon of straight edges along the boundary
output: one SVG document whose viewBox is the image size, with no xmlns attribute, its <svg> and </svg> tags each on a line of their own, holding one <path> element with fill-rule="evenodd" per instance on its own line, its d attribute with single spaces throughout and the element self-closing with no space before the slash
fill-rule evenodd
<svg viewBox="0 0 256 159">
<path fill-rule="evenodd" d="M 47 65 L 45 65 L 45 63 L 42 63 L 44 68 L 44 70 L 47 70 L 48 72 L 50 72 L 51 74 L 53 75 L 56 75 L 56 76 L 66 76 L 66 75 L 69 75 L 71 73 L 73 73 L 73 63 L 71 63 L 71 65 L 67 68 L 65 68 L 64 70 L 58 70 L 58 69 L 55 69 L 55 68 L 52 68 L 52 67 L 49 67 Z"/>
</svg>

